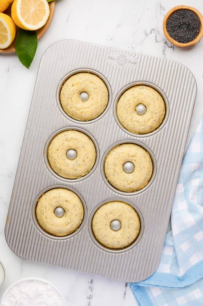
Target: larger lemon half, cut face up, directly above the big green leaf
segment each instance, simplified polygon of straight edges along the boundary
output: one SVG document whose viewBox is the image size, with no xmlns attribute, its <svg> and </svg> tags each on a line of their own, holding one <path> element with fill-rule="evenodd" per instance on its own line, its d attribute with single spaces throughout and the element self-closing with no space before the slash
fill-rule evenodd
<svg viewBox="0 0 203 306">
<path fill-rule="evenodd" d="M 46 0 L 15 0 L 11 8 L 13 21 L 24 30 L 42 28 L 49 17 L 49 4 Z"/>
</svg>

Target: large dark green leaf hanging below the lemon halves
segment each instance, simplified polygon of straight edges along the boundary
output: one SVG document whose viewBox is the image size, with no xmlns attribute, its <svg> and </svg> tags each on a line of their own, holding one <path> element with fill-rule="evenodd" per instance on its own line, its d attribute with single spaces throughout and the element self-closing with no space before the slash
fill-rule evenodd
<svg viewBox="0 0 203 306">
<path fill-rule="evenodd" d="M 20 62 L 27 68 L 33 61 L 35 52 L 37 50 L 37 34 L 35 31 L 27 31 L 23 29 L 18 30 L 15 48 L 16 54 Z"/>
</svg>

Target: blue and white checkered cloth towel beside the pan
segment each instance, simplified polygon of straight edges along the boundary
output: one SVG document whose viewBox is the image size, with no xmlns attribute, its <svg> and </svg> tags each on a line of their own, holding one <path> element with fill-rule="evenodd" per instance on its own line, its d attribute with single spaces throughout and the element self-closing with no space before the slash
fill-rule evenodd
<svg viewBox="0 0 203 306">
<path fill-rule="evenodd" d="M 184 156 L 157 270 L 130 283 L 141 306 L 203 306 L 203 117 Z"/>
</svg>

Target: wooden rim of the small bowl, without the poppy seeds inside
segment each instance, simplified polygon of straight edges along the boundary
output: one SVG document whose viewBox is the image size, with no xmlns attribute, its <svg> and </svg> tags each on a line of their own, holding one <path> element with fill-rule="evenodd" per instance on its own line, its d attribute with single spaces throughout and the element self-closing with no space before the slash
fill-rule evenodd
<svg viewBox="0 0 203 306">
<path fill-rule="evenodd" d="M 168 21 L 169 17 L 173 13 L 175 13 L 177 10 L 179 10 L 179 9 L 189 9 L 190 11 L 194 12 L 197 15 L 197 17 L 199 18 L 199 21 L 200 21 L 200 31 L 199 31 L 199 34 L 197 35 L 197 37 L 195 39 L 193 39 L 189 43 L 179 43 L 178 41 L 176 41 L 175 39 L 173 39 L 169 35 L 169 33 L 168 33 L 167 29 L 166 29 L 166 24 L 167 24 L 167 21 Z M 200 39 L 202 38 L 202 36 L 203 36 L 203 17 L 202 17 L 202 14 L 197 9 L 195 9 L 192 6 L 186 6 L 186 5 L 175 6 L 172 9 L 170 9 L 168 11 L 168 13 L 166 13 L 166 15 L 164 17 L 163 31 L 164 31 L 164 35 L 166 36 L 166 38 L 169 40 L 170 43 L 172 43 L 172 44 L 174 44 L 174 45 L 176 45 L 178 47 L 189 47 L 189 46 L 192 46 L 195 43 L 198 43 L 200 41 Z"/>
</svg>

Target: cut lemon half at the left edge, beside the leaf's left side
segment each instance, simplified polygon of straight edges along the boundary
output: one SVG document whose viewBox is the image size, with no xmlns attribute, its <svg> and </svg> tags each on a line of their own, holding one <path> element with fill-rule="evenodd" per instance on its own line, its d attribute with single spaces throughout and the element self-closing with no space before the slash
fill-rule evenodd
<svg viewBox="0 0 203 306">
<path fill-rule="evenodd" d="M 16 26 L 8 15 L 0 13 L 0 49 L 10 46 L 16 35 Z"/>
</svg>

